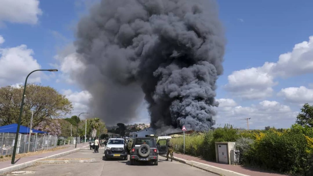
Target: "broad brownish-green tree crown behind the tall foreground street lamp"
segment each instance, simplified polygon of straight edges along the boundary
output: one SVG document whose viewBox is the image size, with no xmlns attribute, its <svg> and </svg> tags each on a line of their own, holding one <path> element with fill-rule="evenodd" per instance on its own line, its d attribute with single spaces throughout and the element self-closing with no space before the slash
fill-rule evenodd
<svg viewBox="0 0 313 176">
<path fill-rule="evenodd" d="M 0 88 L 0 125 L 18 122 L 24 86 Z M 48 117 L 60 117 L 71 112 L 71 102 L 54 88 L 28 84 L 25 92 L 22 125 L 28 125 L 34 111 L 33 127 Z"/>
</svg>

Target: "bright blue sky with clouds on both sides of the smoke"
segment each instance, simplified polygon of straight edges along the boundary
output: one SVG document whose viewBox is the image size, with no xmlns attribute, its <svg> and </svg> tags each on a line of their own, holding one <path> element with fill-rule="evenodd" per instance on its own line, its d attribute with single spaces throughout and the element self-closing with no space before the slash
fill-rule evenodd
<svg viewBox="0 0 313 176">
<path fill-rule="evenodd" d="M 0 3 L 0 10 L 19 7 L 23 5 L 23 1 L 26 2 L 9 2 L 13 4 L 11 6 Z M 66 0 L 40 1 L 38 4 L 37 0 L 29 0 L 27 6 L 23 5 L 25 12 L 20 13 L 20 16 L 13 14 L 14 10 L 11 10 L 12 16 L 9 12 L 3 16 L 0 14 L 0 36 L 5 40 L 0 44 L 0 49 L 9 50 L 25 44 L 27 49 L 33 50 L 32 58 L 28 58 L 32 64 L 28 65 L 29 60 L 24 60 L 24 66 L 29 67 L 27 69 L 38 67 L 33 60 L 37 60 L 43 69 L 57 67 L 60 60 L 56 60 L 55 56 L 72 43 L 75 24 L 92 2 Z M 313 35 L 313 1 L 218 0 L 218 5 L 227 46 L 224 74 L 217 82 L 217 98 L 221 106 L 217 108 L 216 126 L 232 123 L 245 128 L 246 123 L 242 119 L 251 117 L 250 128 L 264 128 L 268 125 L 289 127 L 294 123 L 303 103 L 313 99 L 313 81 L 310 79 L 313 72 L 310 71 L 313 68 L 313 44 L 309 42 L 309 37 Z M 304 41 L 308 43 L 303 43 L 294 50 L 295 44 Z M 292 52 L 288 63 L 262 67 L 265 62 L 277 63 L 280 55 L 288 52 Z M 23 58 L 22 55 L 16 55 L 8 55 L 6 58 L 10 61 L 14 57 Z M 3 52 L 0 56 L 3 62 L 8 62 Z M 19 62 L 18 59 L 14 61 Z M 0 65 L 0 70 L 5 68 Z M 10 71 L 23 70 L 15 66 L 12 68 Z M 10 71 L 8 75 L 1 75 L 0 86 L 23 82 L 27 69 L 20 72 L 21 75 L 8 76 Z M 234 71 L 238 72 L 233 74 Z M 87 111 L 86 104 L 90 95 L 79 86 L 62 79 L 64 75 L 66 73 L 59 71 L 34 77 L 40 76 L 42 85 L 50 85 L 66 94 L 75 106 L 73 114 L 81 110 Z M 230 75 L 233 76 L 233 81 L 229 80 Z M 134 122 L 149 122 L 147 112 L 142 110 Z"/>
</svg>

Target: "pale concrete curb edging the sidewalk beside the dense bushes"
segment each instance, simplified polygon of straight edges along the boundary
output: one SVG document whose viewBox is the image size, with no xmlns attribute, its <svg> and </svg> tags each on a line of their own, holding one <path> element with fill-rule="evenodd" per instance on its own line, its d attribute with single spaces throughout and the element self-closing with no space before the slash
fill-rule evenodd
<svg viewBox="0 0 313 176">
<path fill-rule="evenodd" d="M 166 158 L 166 155 L 160 155 L 160 156 Z M 199 168 L 199 169 L 203 169 L 205 171 L 208 171 L 208 172 L 211 172 L 211 173 L 215 173 L 215 174 L 218 174 L 218 175 L 223 175 L 223 176 L 250 176 L 250 175 L 245 175 L 245 174 L 242 174 L 242 173 L 234 172 L 234 171 L 231 171 L 231 170 L 218 168 L 218 167 L 211 166 L 211 165 L 208 165 L 208 164 L 199 163 L 199 162 L 196 162 L 196 161 L 185 160 L 185 159 L 182 159 L 182 158 L 174 157 L 173 160 L 174 161 L 178 161 L 180 163 L 188 164 L 190 166 L 193 166 L 193 167 L 196 167 L 196 168 Z"/>
</svg>

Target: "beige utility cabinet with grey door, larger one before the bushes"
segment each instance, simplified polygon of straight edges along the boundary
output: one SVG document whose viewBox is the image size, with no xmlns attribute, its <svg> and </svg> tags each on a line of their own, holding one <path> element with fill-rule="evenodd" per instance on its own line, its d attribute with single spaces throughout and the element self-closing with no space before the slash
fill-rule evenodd
<svg viewBox="0 0 313 176">
<path fill-rule="evenodd" d="M 215 142 L 216 162 L 231 164 L 230 151 L 235 149 L 235 142 Z"/>
</svg>

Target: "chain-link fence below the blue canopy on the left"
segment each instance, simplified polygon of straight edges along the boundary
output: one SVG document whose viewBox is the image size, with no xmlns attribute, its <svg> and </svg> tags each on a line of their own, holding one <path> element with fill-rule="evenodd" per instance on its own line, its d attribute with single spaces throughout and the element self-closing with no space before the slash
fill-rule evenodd
<svg viewBox="0 0 313 176">
<path fill-rule="evenodd" d="M 1 140 L 0 141 L 1 155 L 12 155 L 15 143 L 15 133 L 0 133 L 0 140 Z M 18 135 L 18 145 L 16 153 L 27 153 L 28 146 L 29 152 L 56 148 L 58 137 L 51 135 L 38 135 L 37 133 L 32 133 L 29 145 L 28 140 L 29 140 L 28 134 Z"/>
</svg>

